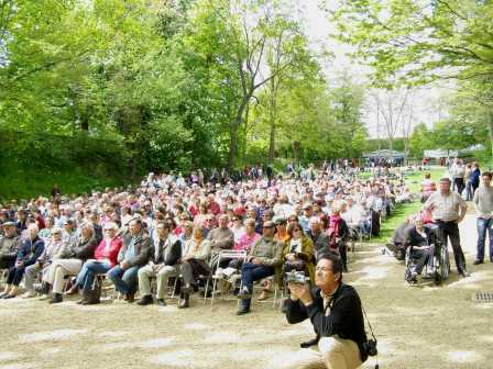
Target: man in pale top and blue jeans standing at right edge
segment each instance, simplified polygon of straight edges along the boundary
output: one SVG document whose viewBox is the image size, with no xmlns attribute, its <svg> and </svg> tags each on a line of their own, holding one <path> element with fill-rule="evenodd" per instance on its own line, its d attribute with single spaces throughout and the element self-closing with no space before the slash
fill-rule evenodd
<svg viewBox="0 0 493 369">
<path fill-rule="evenodd" d="M 483 264 L 486 231 L 490 237 L 490 261 L 493 262 L 493 187 L 491 186 L 491 172 L 483 172 L 481 186 L 475 190 L 472 200 L 478 215 L 478 254 L 474 265 Z"/>
</svg>

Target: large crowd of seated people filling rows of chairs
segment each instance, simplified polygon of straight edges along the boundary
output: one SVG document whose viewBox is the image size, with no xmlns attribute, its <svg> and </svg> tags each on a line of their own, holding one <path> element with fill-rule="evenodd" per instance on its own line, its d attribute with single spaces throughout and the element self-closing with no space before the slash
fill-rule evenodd
<svg viewBox="0 0 493 369">
<path fill-rule="evenodd" d="M 338 255 L 347 271 L 349 228 L 377 232 L 380 216 L 406 192 L 403 182 L 363 180 L 330 167 L 310 166 L 305 179 L 202 177 L 150 174 L 135 188 L 72 197 L 58 190 L 0 204 L 0 269 L 7 270 L 0 298 L 18 297 L 23 281 L 25 299 L 61 303 L 80 293 L 78 303 L 92 304 L 106 282 L 129 302 L 139 292 L 139 305 L 166 305 L 176 288 L 185 309 L 200 277 L 233 268 L 241 284 L 238 313 L 244 314 L 253 283 L 265 277 L 278 282 L 297 270 L 313 279 L 324 253 Z M 246 257 L 219 262 L 221 250 L 244 250 Z M 272 283 L 264 284 L 261 300 Z"/>
</svg>

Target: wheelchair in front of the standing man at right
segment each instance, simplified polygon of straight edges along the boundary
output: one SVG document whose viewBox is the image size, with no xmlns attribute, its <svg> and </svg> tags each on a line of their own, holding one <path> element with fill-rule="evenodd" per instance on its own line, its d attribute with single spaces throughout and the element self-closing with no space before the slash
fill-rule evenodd
<svg viewBox="0 0 493 369">
<path fill-rule="evenodd" d="M 449 278 L 450 273 L 450 258 L 447 249 L 447 244 L 443 245 L 440 230 L 436 224 L 427 224 L 425 227 L 430 230 L 430 245 L 434 245 L 434 255 L 428 258 L 421 271 L 421 278 L 432 278 L 436 284 L 441 284 Z M 406 271 L 404 279 L 408 283 L 416 283 L 412 280 L 412 275 L 417 265 L 417 255 L 413 254 L 413 246 L 406 249 L 405 265 Z M 425 277 L 423 277 L 425 275 Z"/>
</svg>

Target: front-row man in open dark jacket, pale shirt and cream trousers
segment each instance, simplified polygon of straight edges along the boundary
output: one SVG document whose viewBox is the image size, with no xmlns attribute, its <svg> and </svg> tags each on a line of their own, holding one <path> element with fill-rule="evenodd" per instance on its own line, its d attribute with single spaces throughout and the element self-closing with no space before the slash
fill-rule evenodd
<svg viewBox="0 0 493 369">
<path fill-rule="evenodd" d="M 151 293 L 151 278 L 157 280 L 157 304 L 166 305 L 166 288 L 169 277 L 175 277 L 179 272 L 178 260 L 182 258 L 182 242 L 175 236 L 169 225 L 165 222 L 156 224 L 157 238 L 153 241 L 154 254 L 149 264 L 139 269 L 139 290 L 141 300 L 139 305 L 153 303 Z"/>
</svg>

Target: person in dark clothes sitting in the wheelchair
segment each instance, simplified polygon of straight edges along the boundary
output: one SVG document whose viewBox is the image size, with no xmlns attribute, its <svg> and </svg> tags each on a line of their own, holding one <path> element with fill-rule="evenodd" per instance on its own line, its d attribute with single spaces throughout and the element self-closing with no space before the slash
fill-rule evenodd
<svg viewBox="0 0 493 369">
<path fill-rule="evenodd" d="M 407 234 L 407 244 L 409 245 L 409 259 L 414 261 L 414 267 L 406 271 L 408 282 L 416 283 L 417 277 L 421 275 L 425 264 L 432 260 L 435 254 L 435 236 L 429 227 L 423 226 L 421 215 L 414 220 L 414 226 Z"/>
</svg>

